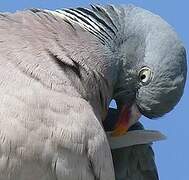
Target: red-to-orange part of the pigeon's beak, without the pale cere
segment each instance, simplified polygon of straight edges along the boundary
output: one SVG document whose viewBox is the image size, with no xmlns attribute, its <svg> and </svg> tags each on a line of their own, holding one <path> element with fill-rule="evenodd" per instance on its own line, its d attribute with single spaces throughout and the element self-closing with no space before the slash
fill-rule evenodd
<svg viewBox="0 0 189 180">
<path fill-rule="evenodd" d="M 131 109 L 128 106 L 123 106 L 115 129 L 111 134 L 113 137 L 124 135 L 128 131 L 130 117 Z"/>
</svg>

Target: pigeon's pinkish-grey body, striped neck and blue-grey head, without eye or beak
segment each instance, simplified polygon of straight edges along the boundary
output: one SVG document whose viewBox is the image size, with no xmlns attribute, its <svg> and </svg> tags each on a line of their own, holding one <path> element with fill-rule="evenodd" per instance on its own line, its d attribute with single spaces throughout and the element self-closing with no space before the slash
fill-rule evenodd
<svg viewBox="0 0 189 180">
<path fill-rule="evenodd" d="M 160 117 L 185 79 L 181 41 L 141 8 L 0 14 L 0 179 L 113 180 L 101 126 L 111 99 Z"/>
</svg>

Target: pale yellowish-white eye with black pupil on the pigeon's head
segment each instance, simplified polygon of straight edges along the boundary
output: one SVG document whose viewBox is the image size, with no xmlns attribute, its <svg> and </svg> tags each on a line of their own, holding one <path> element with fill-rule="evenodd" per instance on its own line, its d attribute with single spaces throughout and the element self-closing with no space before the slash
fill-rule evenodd
<svg viewBox="0 0 189 180">
<path fill-rule="evenodd" d="M 151 71 L 151 69 L 149 69 L 148 67 L 143 67 L 139 71 L 139 80 L 140 80 L 140 82 L 142 82 L 143 84 L 147 85 L 150 82 L 151 79 L 152 79 L 152 71 Z"/>
</svg>

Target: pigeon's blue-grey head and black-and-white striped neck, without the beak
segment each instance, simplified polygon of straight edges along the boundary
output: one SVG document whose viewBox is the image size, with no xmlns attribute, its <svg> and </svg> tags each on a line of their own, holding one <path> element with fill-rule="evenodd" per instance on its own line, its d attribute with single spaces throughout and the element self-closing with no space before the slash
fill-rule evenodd
<svg viewBox="0 0 189 180">
<path fill-rule="evenodd" d="M 112 5 L 56 13 L 112 50 L 119 66 L 113 93 L 118 108 L 136 104 L 143 115 L 156 118 L 178 103 L 186 81 L 186 53 L 177 34 L 159 16 L 134 6 Z"/>
</svg>

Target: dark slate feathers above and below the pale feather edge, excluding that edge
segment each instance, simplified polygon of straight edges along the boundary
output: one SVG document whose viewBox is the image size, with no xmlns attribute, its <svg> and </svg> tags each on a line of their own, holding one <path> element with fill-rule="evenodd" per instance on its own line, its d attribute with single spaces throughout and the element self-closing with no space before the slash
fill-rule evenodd
<svg viewBox="0 0 189 180">
<path fill-rule="evenodd" d="M 118 111 L 110 108 L 104 128 L 112 131 L 118 118 Z M 144 130 L 137 122 L 129 131 Z M 149 144 L 137 144 L 112 150 L 116 180 L 158 180 L 158 172 L 154 160 L 154 152 Z"/>
</svg>

